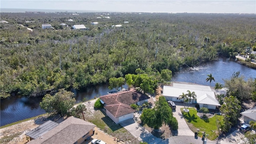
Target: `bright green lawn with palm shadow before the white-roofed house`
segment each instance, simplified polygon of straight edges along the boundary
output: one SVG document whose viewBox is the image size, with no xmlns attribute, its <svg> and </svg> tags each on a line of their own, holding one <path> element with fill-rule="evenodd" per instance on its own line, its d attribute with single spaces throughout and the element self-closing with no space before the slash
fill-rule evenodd
<svg viewBox="0 0 256 144">
<path fill-rule="evenodd" d="M 200 130 L 198 136 L 202 136 L 202 132 L 208 134 L 207 138 L 209 140 L 214 140 L 218 137 L 218 129 L 216 125 L 216 117 L 208 118 L 206 120 L 201 119 L 197 115 L 197 111 L 194 108 L 188 108 L 189 112 L 184 112 L 184 118 L 193 132 L 197 132 L 197 129 Z M 181 111 L 183 108 L 180 109 Z M 221 116 L 217 115 L 217 118 Z"/>
</svg>

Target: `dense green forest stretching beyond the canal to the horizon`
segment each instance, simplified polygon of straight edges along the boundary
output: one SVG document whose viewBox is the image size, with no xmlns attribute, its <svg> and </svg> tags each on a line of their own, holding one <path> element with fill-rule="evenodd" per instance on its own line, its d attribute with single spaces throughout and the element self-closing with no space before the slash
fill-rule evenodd
<svg viewBox="0 0 256 144">
<path fill-rule="evenodd" d="M 0 24 L 1 98 L 85 88 L 138 68 L 175 73 L 218 56 L 255 58 L 255 14 L 0 14 L 8 22 Z M 73 30 L 74 24 L 86 30 Z"/>
</svg>

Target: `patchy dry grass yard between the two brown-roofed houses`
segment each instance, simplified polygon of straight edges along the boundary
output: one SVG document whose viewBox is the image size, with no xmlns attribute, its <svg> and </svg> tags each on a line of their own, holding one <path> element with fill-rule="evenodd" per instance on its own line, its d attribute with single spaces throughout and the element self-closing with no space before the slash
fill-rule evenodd
<svg viewBox="0 0 256 144">
<path fill-rule="evenodd" d="M 87 113 L 87 112 L 86 112 Z M 89 116 L 88 116 L 89 115 Z M 85 114 L 86 120 L 95 124 L 102 131 L 105 131 L 109 135 L 112 135 L 120 140 L 123 140 L 125 143 L 129 142 L 130 144 L 139 144 L 140 141 L 132 136 L 125 128 L 120 124 L 114 123 L 103 111 L 95 110 L 93 115 Z"/>
</svg>

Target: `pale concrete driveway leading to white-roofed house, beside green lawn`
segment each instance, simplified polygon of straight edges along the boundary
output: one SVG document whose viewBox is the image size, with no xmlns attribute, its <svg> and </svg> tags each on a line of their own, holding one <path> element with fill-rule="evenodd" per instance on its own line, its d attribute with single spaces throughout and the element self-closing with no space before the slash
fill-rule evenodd
<svg viewBox="0 0 256 144">
<path fill-rule="evenodd" d="M 180 108 L 184 108 L 183 102 L 175 102 L 175 104 L 176 112 L 173 112 L 173 116 L 178 120 L 178 136 L 194 136 L 194 132 L 190 130 L 180 111 Z M 190 104 L 190 106 L 194 105 Z"/>
</svg>

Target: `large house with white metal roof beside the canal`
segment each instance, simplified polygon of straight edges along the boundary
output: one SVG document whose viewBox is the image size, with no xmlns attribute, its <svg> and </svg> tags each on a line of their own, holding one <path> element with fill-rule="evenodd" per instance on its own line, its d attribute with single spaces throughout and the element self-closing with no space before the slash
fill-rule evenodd
<svg viewBox="0 0 256 144">
<path fill-rule="evenodd" d="M 173 86 L 164 86 L 163 96 L 166 100 L 183 102 L 182 99 L 179 99 L 179 96 L 182 95 L 182 93 L 187 94 L 187 90 L 195 92 L 196 100 L 192 99 L 191 103 L 198 103 L 200 108 L 207 107 L 209 109 L 215 109 L 216 106 L 220 106 L 210 86 L 174 83 Z"/>
</svg>

